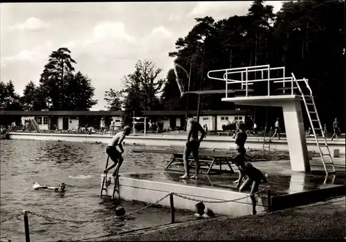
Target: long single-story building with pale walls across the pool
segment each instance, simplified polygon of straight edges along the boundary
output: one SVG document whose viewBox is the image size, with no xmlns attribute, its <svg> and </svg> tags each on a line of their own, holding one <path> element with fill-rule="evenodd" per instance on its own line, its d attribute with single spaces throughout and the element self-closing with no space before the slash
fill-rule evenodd
<svg viewBox="0 0 346 242">
<path fill-rule="evenodd" d="M 140 116 L 147 117 L 147 122 L 160 122 L 163 129 L 169 125 L 171 129 L 183 127 L 185 124 L 185 111 L 142 111 Z M 194 117 L 197 111 L 189 111 Z M 207 124 L 208 130 L 222 130 L 222 125 L 233 120 L 245 120 L 244 110 L 205 110 L 201 111 L 199 122 L 203 126 Z M 249 115 L 249 113 L 247 113 Z M 12 120 L 26 120 L 34 117 L 39 129 L 77 129 L 78 127 L 94 127 L 100 129 L 100 120 L 104 118 L 106 127 L 111 120 L 116 122 L 116 129 L 123 124 L 122 111 L 0 111 L 3 122 L 10 124 Z M 8 122 L 6 121 L 8 119 Z"/>
</svg>

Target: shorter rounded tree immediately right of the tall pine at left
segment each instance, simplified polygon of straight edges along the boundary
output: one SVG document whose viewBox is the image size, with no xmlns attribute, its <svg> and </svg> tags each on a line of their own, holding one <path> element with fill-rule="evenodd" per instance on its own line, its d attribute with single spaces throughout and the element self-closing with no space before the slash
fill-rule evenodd
<svg viewBox="0 0 346 242">
<path fill-rule="evenodd" d="M 92 99 L 95 88 L 91 86 L 89 77 L 82 75 L 80 71 L 70 77 L 71 80 L 66 84 L 64 110 L 87 111 L 98 103 Z"/>
</svg>

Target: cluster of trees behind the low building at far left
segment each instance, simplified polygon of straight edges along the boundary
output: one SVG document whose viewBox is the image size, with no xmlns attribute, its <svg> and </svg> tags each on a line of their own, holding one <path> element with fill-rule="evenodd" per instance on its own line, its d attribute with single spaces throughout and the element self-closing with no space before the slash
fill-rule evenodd
<svg viewBox="0 0 346 242">
<path fill-rule="evenodd" d="M 33 81 L 26 84 L 23 96 L 15 92 L 10 80 L 0 82 L 0 109 L 3 110 L 89 110 L 97 104 L 93 100 L 95 88 L 91 80 L 80 71 L 75 73 L 68 48 L 59 48 L 49 55 L 39 85 Z"/>
</svg>

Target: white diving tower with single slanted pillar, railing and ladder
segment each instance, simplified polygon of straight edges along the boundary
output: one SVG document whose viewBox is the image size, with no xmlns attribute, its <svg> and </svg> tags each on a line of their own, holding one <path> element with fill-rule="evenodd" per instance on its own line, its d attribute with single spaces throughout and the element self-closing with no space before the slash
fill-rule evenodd
<svg viewBox="0 0 346 242">
<path fill-rule="evenodd" d="M 331 158 L 325 134 L 322 131 L 322 124 L 309 82 L 305 78 L 296 79 L 293 73 L 291 73 L 290 77 L 286 77 L 285 71 L 284 66 L 246 66 L 209 71 L 208 78 L 225 82 L 226 88 L 224 93 L 226 97 L 221 99 L 224 102 L 251 106 L 282 107 L 291 169 L 293 171 L 310 171 L 302 108 L 300 106 L 300 103 L 303 102 L 325 172 L 326 174 L 334 173 L 333 159 Z M 260 78 L 257 78 L 257 76 L 260 76 Z M 253 92 L 253 86 L 257 82 L 265 85 L 265 93 L 256 95 Z M 234 90 L 242 90 L 244 95 L 230 97 L 229 93 L 235 93 Z M 203 94 L 203 91 L 199 93 Z M 212 91 L 209 91 L 209 93 L 212 93 Z M 318 135 L 321 135 L 321 137 L 318 138 Z"/>
</svg>

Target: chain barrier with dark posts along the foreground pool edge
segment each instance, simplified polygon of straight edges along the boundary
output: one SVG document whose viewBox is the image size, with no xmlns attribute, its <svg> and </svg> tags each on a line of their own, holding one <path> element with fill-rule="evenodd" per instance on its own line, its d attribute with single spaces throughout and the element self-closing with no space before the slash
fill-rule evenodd
<svg viewBox="0 0 346 242">
<path fill-rule="evenodd" d="M 104 221 L 111 221 L 113 219 L 123 219 L 127 216 L 130 216 L 132 214 L 136 214 L 138 212 L 141 212 L 143 210 L 146 210 L 149 207 L 152 207 L 153 205 L 156 205 L 158 203 L 160 203 L 161 201 L 163 201 L 163 199 L 170 197 L 170 211 L 171 211 L 171 223 L 175 223 L 175 210 L 174 210 L 174 196 L 177 196 L 179 198 L 183 198 L 183 199 L 187 199 L 189 201 L 194 201 L 197 203 L 232 203 L 232 202 L 236 202 L 239 200 L 242 200 L 244 198 L 248 198 L 251 196 L 255 196 L 256 194 L 260 194 L 261 192 L 263 192 L 264 190 L 267 190 L 266 194 L 267 194 L 267 199 L 268 199 L 268 212 L 271 212 L 271 187 L 270 186 L 266 186 L 263 189 L 260 189 L 257 192 L 254 192 L 253 194 L 248 194 L 246 196 L 243 196 L 241 198 L 235 198 L 233 200 L 221 200 L 221 201 L 208 201 L 208 200 L 199 200 L 196 198 L 192 198 L 192 197 L 188 197 L 188 196 L 184 196 L 182 194 L 178 194 L 175 192 L 170 192 L 168 194 L 166 194 L 165 196 L 163 196 L 162 198 L 160 198 L 158 201 L 156 201 L 155 203 L 150 203 L 149 205 L 140 208 L 139 210 L 136 210 L 134 212 L 130 212 L 128 214 L 122 215 L 122 216 L 109 216 L 107 218 L 102 218 L 102 219 L 89 219 L 89 220 L 75 220 L 75 219 L 68 219 L 68 218 L 53 218 L 51 216 L 47 216 L 44 214 L 39 214 L 37 212 L 30 212 L 28 210 L 24 210 L 23 212 L 19 212 L 17 214 L 12 214 L 12 216 L 8 217 L 8 218 L 4 218 L 3 220 L 0 221 L 1 223 L 4 223 L 6 221 L 10 221 L 13 218 L 18 218 L 21 215 L 24 215 L 24 230 L 25 230 L 25 237 L 26 237 L 26 242 L 30 242 L 30 233 L 29 233 L 29 220 L 28 220 L 28 214 L 31 214 L 33 216 L 38 216 L 41 218 L 44 218 L 48 221 L 59 221 L 59 222 L 66 222 L 66 223 L 100 223 L 100 222 L 104 222 Z M 87 239 L 87 238 L 84 238 Z M 83 241 L 84 239 L 78 239 L 75 241 Z M 10 240 L 8 240 L 9 242 Z M 71 241 L 71 240 L 69 240 Z"/>
</svg>

